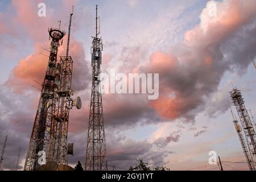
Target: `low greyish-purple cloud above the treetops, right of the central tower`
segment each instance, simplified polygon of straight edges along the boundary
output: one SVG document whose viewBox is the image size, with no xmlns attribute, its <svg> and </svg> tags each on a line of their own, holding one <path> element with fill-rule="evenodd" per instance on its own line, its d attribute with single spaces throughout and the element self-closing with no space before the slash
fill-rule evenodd
<svg viewBox="0 0 256 182">
<path fill-rule="evenodd" d="M 135 159 L 141 158 L 152 167 L 164 165 L 164 158 L 172 151 L 157 151 L 153 149 L 153 144 L 146 140 L 135 141 L 118 135 L 106 135 L 109 141 L 108 146 L 108 165 L 115 166 L 117 169 L 128 169 L 136 166 Z"/>
</svg>

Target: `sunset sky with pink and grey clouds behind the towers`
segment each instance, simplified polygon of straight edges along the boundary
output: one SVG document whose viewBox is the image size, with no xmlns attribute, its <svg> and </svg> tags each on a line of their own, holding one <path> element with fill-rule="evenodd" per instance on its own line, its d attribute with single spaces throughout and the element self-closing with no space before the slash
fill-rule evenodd
<svg viewBox="0 0 256 182">
<path fill-rule="evenodd" d="M 38 16 L 38 4 L 46 16 Z M 237 86 L 246 108 L 256 116 L 256 2 L 211 1 L 0 1 L 0 147 L 8 134 L 2 169 L 14 170 L 21 147 L 24 167 L 42 82 L 47 68 L 48 28 L 67 32 L 72 5 L 72 88 L 82 109 L 72 109 L 68 142 L 75 144 L 69 165 L 85 164 L 95 35 L 95 7 L 103 39 L 101 71 L 159 73 L 159 98 L 145 94 L 103 93 L 109 169 L 128 169 L 142 158 L 150 167 L 171 170 L 246 170 L 245 156 L 232 122 L 229 92 Z M 65 45 L 64 38 L 64 45 Z M 59 55 L 65 46 L 61 46 Z M 36 87 L 36 88 L 35 88 Z M 236 113 L 237 114 L 237 113 Z M 241 163 L 228 163 L 241 162 Z"/>
</svg>

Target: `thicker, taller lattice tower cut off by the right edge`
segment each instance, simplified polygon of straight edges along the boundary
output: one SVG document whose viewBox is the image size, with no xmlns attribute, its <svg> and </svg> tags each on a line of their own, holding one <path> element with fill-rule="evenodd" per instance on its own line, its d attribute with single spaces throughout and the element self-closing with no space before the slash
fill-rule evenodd
<svg viewBox="0 0 256 182">
<path fill-rule="evenodd" d="M 251 122 L 248 111 L 246 110 L 245 103 L 242 98 L 240 90 L 234 88 L 230 92 L 233 104 L 236 106 L 238 116 L 240 118 L 242 129 L 245 133 L 245 138 L 247 146 L 249 149 L 249 154 L 251 158 L 251 166 L 256 167 L 256 134 L 253 128 L 253 123 Z"/>
</svg>

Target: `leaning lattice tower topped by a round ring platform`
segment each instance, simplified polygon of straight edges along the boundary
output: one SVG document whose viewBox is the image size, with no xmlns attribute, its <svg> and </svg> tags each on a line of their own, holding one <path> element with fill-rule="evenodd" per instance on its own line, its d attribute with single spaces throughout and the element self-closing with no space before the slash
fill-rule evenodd
<svg viewBox="0 0 256 182">
<path fill-rule="evenodd" d="M 51 51 L 49 55 L 48 67 L 46 76 L 42 84 L 42 92 L 39 99 L 38 110 L 36 111 L 36 117 L 32 134 L 30 138 L 30 144 L 28 146 L 27 158 L 24 166 L 25 171 L 37 170 L 40 167 L 38 163 L 38 152 L 48 151 L 49 143 L 51 142 L 53 135 L 53 113 L 56 105 L 56 92 L 57 85 L 55 84 L 55 75 L 57 67 L 57 53 L 60 46 L 60 40 L 64 36 L 64 31 L 59 28 L 51 28 L 49 30 L 49 36 L 51 37 Z M 51 105 L 48 107 L 48 105 Z"/>
</svg>

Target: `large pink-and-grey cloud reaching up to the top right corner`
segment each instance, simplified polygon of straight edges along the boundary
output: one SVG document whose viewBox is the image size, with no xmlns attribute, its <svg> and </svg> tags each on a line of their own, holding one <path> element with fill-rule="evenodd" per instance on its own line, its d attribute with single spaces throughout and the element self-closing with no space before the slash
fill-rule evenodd
<svg viewBox="0 0 256 182">
<path fill-rule="evenodd" d="M 184 42 L 168 53 L 153 53 L 149 64 L 139 66 L 141 72 L 159 73 L 159 99 L 150 106 L 164 119 L 194 122 L 224 73 L 244 73 L 250 64 L 248 55 L 255 55 L 255 1 L 216 3 L 216 17 L 202 11 L 200 24 L 185 33 Z"/>
</svg>

